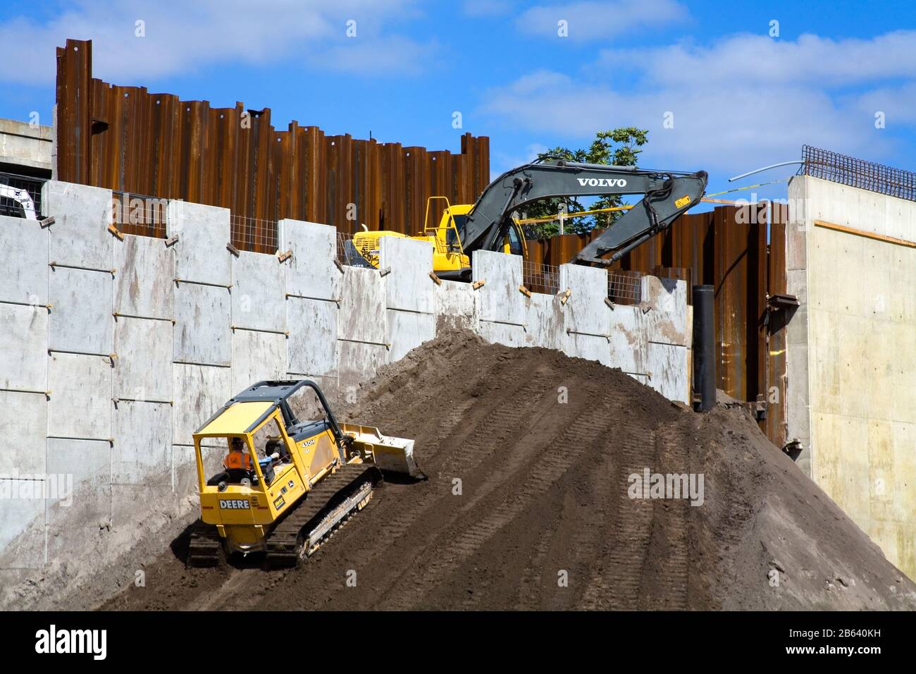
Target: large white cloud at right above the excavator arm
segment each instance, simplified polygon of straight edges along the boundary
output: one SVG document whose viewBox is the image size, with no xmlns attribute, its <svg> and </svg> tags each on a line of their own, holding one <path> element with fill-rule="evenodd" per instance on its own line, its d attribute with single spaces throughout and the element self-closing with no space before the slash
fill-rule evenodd
<svg viewBox="0 0 916 674">
<path fill-rule="evenodd" d="M 647 128 L 646 166 L 736 172 L 797 159 L 803 144 L 879 160 L 897 149 L 895 129 L 916 121 L 916 35 L 763 40 L 605 51 L 603 68 L 533 72 L 495 87 L 484 112 L 538 139 L 583 145 L 600 129 Z M 609 60 L 638 64 L 637 84 L 590 79 Z M 887 129 L 875 128 L 876 110 L 887 112 Z"/>
</svg>

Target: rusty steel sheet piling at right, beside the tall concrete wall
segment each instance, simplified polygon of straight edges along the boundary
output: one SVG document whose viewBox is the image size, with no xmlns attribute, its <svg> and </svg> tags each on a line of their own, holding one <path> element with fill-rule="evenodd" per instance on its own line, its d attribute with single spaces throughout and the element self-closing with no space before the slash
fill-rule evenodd
<svg viewBox="0 0 916 674">
<path fill-rule="evenodd" d="M 768 297 L 786 293 L 788 211 L 786 204 L 727 205 L 682 215 L 610 268 L 612 279 L 652 274 L 682 279 L 688 288 L 714 286 L 716 385 L 736 400 L 766 402 L 760 427 L 779 447 L 787 441 L 786 316 L 769 307 Z M 596 234 L 529 241 L 529 258 L 562 264 Z"/>
</svg>

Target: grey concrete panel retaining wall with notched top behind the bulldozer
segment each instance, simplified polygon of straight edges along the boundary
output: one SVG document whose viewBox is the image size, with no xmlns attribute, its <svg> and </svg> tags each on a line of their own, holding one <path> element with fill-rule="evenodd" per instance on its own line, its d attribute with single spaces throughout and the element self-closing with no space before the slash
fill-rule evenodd
<svg viewBox="0 0 916 674">
<path fill-rule="evenodd" d="M 688 401 L 683 282 L 647 278 L 647 302 L 611 306 L 604 271 L 564 265 L 563 293 L 526 296 L 518 257 L 475 252 L 474 289 L 435 282 L 431 247 L 405 238 L 382 239 L 380 270 L 339 267 L 335 229 L 296 220 L 280 227 L 291 257 L 234 255 L 228 211 L 180 202 L 168 239 L 120 239 L 110 200 L 49 182 L 53 225 L 0 217 L 0 574 L 82 554 L 87 531 L 130 530 L 150 508 L 192 508 L 191 434 L 253 381 L 311 377 L 352 400 L 443 326 Z"/>
</svg>

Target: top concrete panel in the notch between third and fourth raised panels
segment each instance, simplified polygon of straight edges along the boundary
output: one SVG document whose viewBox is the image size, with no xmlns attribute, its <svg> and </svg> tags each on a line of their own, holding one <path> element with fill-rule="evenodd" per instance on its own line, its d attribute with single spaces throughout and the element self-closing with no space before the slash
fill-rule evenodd
<svg viewBox="0 0 916 674">
<path fill-rule="evenodd" d="M 378 271 L 344 267 L 339 319 L 341 339 L 387 343 L 385 279 Z"/>
</svg>

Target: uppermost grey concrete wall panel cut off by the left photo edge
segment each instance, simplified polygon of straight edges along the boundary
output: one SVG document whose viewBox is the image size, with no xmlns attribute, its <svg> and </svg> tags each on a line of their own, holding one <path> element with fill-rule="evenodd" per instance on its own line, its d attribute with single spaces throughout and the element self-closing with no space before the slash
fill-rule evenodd
<svg viewBox="0 0 916 674">
<path fill-rule="evenodd" d="M 0 302 L 48 304 L 48 229 L 35 220 L 0 215 L 4 282 Z"/>
</svg>

